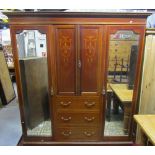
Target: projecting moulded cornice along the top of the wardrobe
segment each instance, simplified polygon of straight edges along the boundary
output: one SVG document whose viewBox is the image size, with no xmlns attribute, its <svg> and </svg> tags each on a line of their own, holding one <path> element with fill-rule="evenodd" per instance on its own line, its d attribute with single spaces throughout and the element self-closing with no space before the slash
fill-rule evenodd
<svg viewBox="0 0 155 155">
<path fill-rule="evenodd" d="M 106 13 L 106 12 L 14 12 L 5 13 L 10 24 L 123 24 L 145 25 L 151 13 Z"/>
</svg>

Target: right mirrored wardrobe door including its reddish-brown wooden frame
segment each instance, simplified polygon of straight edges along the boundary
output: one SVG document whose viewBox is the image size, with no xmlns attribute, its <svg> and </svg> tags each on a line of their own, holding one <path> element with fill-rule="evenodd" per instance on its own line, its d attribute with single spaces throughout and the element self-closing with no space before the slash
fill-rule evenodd
<svg viewBox="0 0 155 155">
<path fill-rule="evenodd" d="M 138 101 L 144 27 L 109 26 L 107 33 L 107 105 L 104 136 L 128 139 Z"/>
</svg>

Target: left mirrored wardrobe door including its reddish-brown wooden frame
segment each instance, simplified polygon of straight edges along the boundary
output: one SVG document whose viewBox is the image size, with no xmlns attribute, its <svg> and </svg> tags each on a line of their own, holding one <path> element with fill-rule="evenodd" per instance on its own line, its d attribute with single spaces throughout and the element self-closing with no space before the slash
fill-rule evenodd
<svg viewBox="0 0 155 155">
<path fill-rule="evenodd" d="M 12 40 L 24 136 L 52 136 L 47 26 L 14 26 Z"/>
</svg>

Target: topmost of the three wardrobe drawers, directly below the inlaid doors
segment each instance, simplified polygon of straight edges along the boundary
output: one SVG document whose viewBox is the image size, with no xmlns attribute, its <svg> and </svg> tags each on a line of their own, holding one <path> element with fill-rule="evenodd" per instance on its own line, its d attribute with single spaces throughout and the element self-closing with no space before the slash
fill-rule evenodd
<svg viewBox="0 0 155 155">
<path fill-rule="evenodd" d="M 56 97 L 55 106 L 57 109 L 82 109 L 82 110 L 99 110 L 100 98 L 71 96 L 71 97 Z"/>
</svg>

